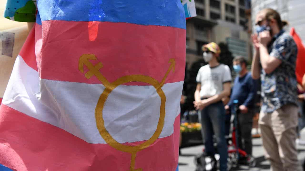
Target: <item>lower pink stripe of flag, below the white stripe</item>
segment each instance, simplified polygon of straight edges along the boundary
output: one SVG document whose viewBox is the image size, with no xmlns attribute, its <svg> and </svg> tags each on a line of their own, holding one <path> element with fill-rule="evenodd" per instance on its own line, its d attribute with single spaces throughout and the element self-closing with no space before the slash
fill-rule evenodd
<svg viewBox="0 0 305 171">
<path fill-rule="evenodd" d="M 3 104 L 0 113 L 0 163 L 13 170 L 129 170 L 129 153 L 120 152 L 107 144 L 89 144 Z M 174 134 L 157 139 L 149 148 L 138 152 L 135 168 L 142 168 L 143 171 L 176 170 L 179 125 L 180 116 L 175 119 Z M 129 145 L 139 143 L 142 141 Z"/>
</svg>

